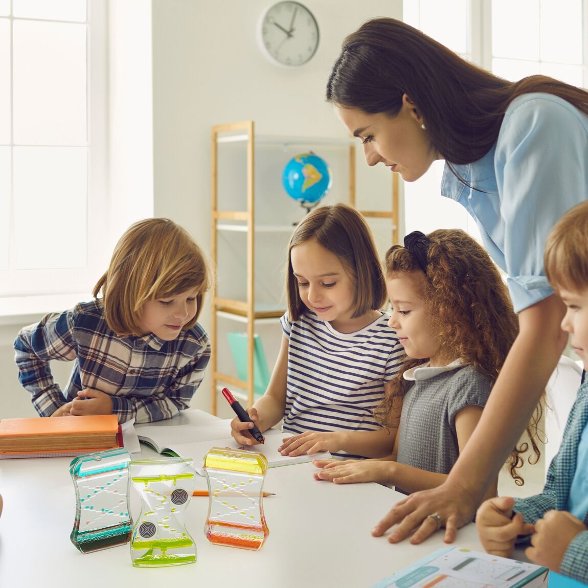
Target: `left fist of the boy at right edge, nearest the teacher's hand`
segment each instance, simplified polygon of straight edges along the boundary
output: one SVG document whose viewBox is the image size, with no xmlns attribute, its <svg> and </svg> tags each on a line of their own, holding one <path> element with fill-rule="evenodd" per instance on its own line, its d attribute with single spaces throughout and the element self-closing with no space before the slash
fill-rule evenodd
<svg viewBox="0 0 588 588">
<path fill-rule="evenodd" d="M 491 498 L 477 510 L 476 527 L 487 553 L 510 557 L 517 536 L 533 532 L 533 525 L 525 523 L 520 513 L 510 519 L 514 504 L 515 500 L 506 496 Z"/>
</svg>

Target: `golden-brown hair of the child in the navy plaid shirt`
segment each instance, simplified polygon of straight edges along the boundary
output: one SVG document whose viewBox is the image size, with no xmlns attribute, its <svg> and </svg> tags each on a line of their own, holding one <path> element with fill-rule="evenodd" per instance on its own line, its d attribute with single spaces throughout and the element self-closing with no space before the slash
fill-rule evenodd
<svg viewBox="0 0 588 588">
<path fill-rule="evenodd" d="M 116 243 L 110 266 L 94 286 L 102 292 L 106 322 L 118 335 L 142 335 L 139 321 L 148 300 L 196 290 L 196 316 L 210 288 L 210 272 L 202 250 L 189 233 L 164 218 L 139 220 Z"/>
</svg>

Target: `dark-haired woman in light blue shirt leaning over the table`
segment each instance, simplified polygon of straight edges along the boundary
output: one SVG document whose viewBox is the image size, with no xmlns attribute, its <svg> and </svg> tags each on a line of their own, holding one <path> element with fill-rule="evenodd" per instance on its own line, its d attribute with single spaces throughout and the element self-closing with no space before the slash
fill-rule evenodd
<svg viewBox="0 0 588 588">
<path fill-rule="evenodd" d="M 545 76 L 511 83 L 390 18 L 343 42 L 326 91 L 368 165 L 407 182 L 445 159 L 441 193 L 467 209 L 508 275 L 520 331 L 482 419 L 443 485 L 397 503 L 373 530 L 445 541 L 470 522 L 539 401 L 567 336 L 543 272 L 547 233 L 588 198 L 588 92 Z M 586 228 L 588 239 L 588 227 Z"/>
</svg>

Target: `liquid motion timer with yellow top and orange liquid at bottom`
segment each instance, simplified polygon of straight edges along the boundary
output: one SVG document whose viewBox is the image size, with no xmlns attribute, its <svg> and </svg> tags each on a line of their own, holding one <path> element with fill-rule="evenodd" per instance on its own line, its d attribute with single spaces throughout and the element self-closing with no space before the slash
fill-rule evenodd
<svg viewBox="0 0 588 588">
<path fill-rule="evenodd" d="M 204 458 L 209 502 L 206 538 L 215 545 L 259 549 L 269 536 L 263 515 L 268 460 L 262 453 L 212 447 Z"/>
</svg>

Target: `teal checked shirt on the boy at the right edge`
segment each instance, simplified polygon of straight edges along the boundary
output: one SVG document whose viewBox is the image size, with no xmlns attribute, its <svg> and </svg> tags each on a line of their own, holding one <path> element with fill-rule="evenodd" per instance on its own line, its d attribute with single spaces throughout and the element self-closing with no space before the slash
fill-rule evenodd
<svg viewBox="0 0 588 588">
<path fill-rule="evenodd" d="M 588 426 L 588 380 L 578 390 L 578 397 L 572 406 L 563 432 L 562 445 L 547 470 L 547 480 L 543 492 L 529 498 L 517 498 L 514 510 L 522 513 L 524 520 L 536 522 L 548 510 L 568 510 L 567 499 L 576 470 L 581 468 L 588 476 L 588 464 L 576 463 L 577 449 L 584 427 Z M 584 515 L 588 525 L 588 513 Z M 523 542 L 528 542 L 525 537 Z M 564 553 L 560 573 L 564 576 L 588 582 L 588 531 L 578 533 Z"/>
</svg>

